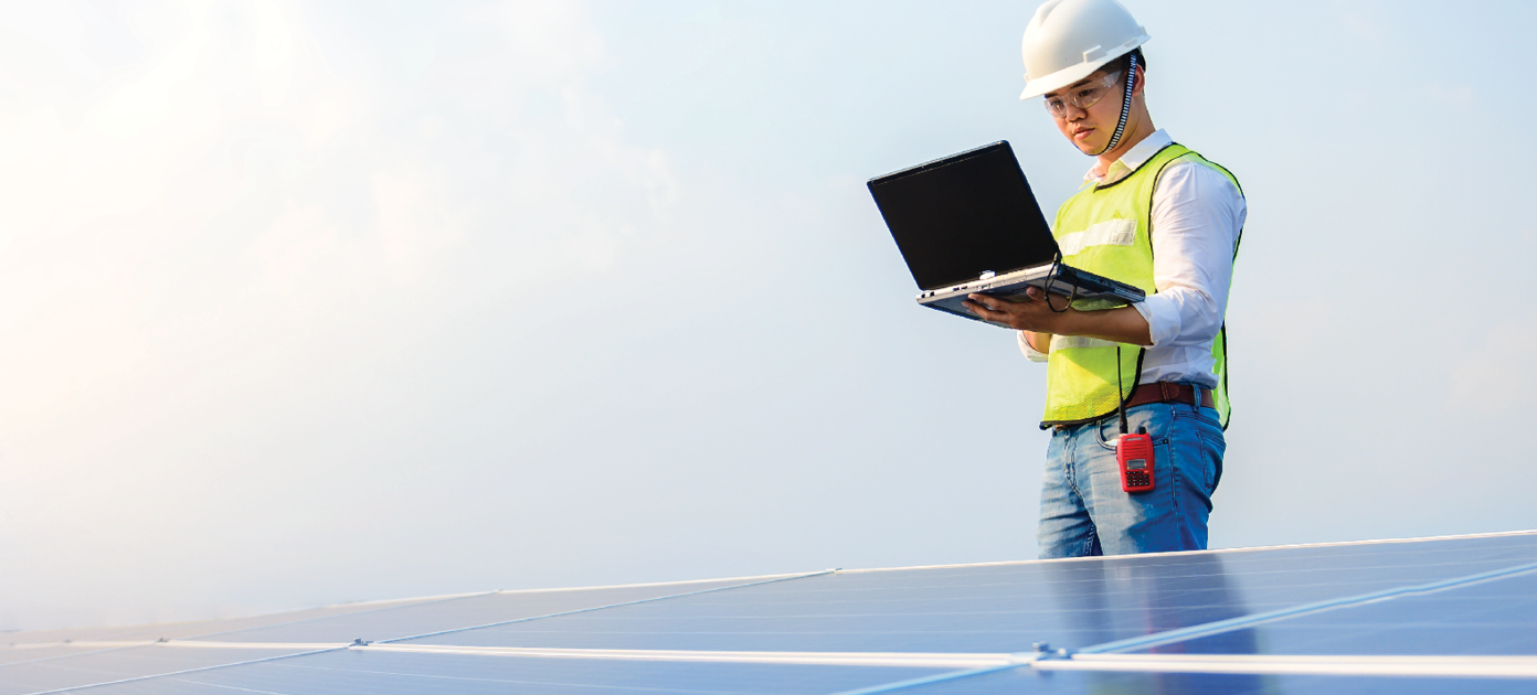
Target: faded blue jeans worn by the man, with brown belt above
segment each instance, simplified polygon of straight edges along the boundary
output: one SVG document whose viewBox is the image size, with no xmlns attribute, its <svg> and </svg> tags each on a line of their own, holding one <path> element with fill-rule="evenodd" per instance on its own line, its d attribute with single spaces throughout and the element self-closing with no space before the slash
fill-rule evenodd
<svg viewBox="0 0 1537 695">
<path fill-rule="evenodd" d="M 1227 442 L 1217 411 L 1147 403 L 1127 411 L 1131 433 L 1153 436 L 1153 489 L 1124 492 L 1116 416 L 1051 433 L 1041 488 L 1041 557 L 1124 555 L 1207 548 L 1211 492 Z"/>
</svg>

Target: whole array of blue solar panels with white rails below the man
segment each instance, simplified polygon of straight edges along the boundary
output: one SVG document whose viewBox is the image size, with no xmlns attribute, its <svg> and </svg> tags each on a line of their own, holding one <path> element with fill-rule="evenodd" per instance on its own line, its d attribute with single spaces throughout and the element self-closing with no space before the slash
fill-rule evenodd
<svg viewBox="0 0 1537 695">
<path fill-rule="evenodd" d="M 0 695 L 1532 692 L 1534 589 L 1537 532 L 492 592 L 22 634 Z"/>
</svg>

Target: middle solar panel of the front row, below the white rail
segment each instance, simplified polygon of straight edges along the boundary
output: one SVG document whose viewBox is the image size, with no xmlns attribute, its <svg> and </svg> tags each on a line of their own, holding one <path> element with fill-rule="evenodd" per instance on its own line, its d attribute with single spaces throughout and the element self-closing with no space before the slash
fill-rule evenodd
<svg viewBox="0 0 1537 695">
<path fill-rule="evenodd" d="M 821 695 L 941 669 L 779 666 L 341 651 L 91 689 L 92 695 Z"/>
</svg>

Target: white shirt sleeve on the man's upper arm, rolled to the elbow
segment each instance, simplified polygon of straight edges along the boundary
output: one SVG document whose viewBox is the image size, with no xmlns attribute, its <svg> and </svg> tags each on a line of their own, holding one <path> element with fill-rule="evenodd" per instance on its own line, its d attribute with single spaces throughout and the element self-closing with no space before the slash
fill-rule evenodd
<svg viewBox="0 0 1537 695">
<path fill-rule="evenodd" d="M 1247 215 L 1243 196 L 1220 172 L 1193 161 L 1164 170 L 1153 195 L 1157 293 L 1133 305 L 1148 322 L 1153 347 L 1202 345 L 1222 330 Z"/>
</svg>

